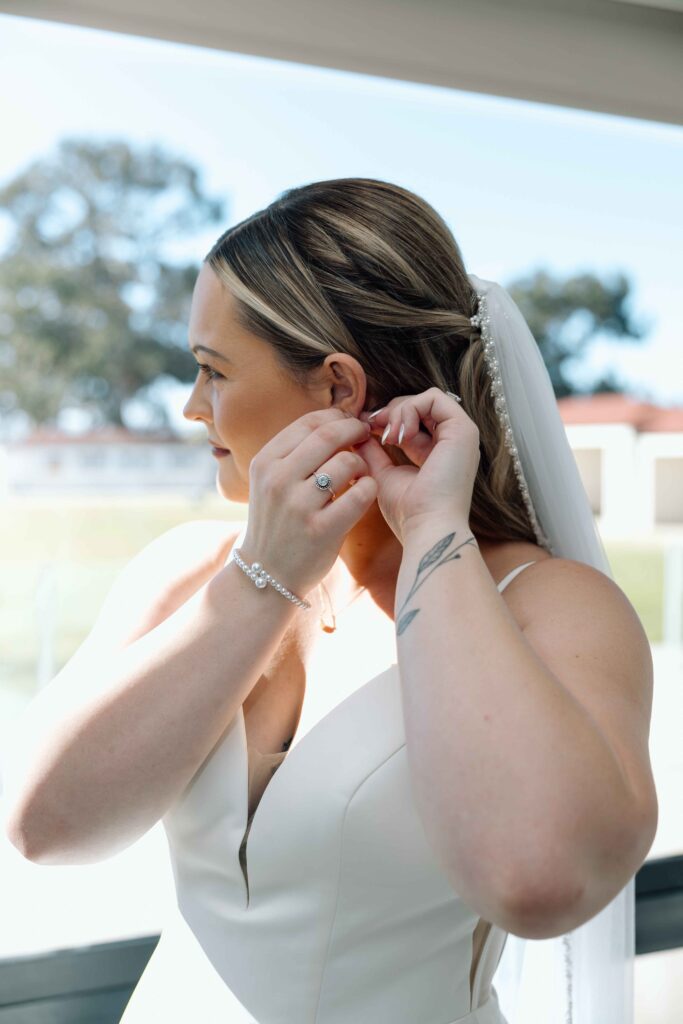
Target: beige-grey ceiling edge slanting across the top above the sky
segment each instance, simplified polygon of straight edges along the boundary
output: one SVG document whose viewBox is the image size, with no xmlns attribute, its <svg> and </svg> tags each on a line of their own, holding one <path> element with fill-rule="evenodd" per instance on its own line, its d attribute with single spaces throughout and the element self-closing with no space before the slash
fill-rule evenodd
<svg viewBox="0 0 683 1024">
<path fill-rule="evenodd" d="M 683 124 L 683 0 L 0 0 L 0 11 Z"/>
</svg>

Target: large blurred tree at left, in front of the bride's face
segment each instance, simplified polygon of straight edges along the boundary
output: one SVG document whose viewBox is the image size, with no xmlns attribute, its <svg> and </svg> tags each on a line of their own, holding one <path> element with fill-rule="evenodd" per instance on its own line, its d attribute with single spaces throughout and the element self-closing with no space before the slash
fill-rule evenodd
<svg viewBox="0 0 683 1024">
<path fill-rule="evenodd" d="M 224 220 L 196 167 L 159 146 L 68 138 L 0 190 L 0 211 L 13 228 L 0 258 L 0 415 L 53 424 L 77 406 L 122 425 L 125 402 L 160 375 L 194 380 L 199 266 L 165 249 Z M 147 401 L 153 426 L 167 426 Z"/>
</svg>

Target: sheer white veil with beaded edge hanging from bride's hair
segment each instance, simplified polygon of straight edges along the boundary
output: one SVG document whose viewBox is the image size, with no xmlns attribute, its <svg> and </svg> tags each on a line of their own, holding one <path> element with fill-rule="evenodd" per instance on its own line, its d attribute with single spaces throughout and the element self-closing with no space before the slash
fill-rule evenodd
<svg viewBox="0 0 683 1024">
<path fill-rule="evenodd" d="M 533 335 L 501 285 L 468 276 L 479 296 L 472 319 L 537 541 L 613 579 Z M 494 987 L 508 1024 L 633 1024 L 634 957 L 635 877 L 568 935 L 508 935 Z"/>
</svg>

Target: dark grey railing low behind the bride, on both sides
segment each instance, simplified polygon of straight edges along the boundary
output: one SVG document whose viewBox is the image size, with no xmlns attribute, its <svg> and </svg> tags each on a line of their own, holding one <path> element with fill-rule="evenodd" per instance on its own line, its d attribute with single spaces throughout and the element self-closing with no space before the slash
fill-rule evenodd
<svg viewBox="0 0 683 1024">
<path fill-rule="evenodd" d="M 0 1024 L 118 1024 L 159 935 L 0 961 Z M 683 947 L 683 855 L 636 874 L 636 955 Z"/>
</svg>

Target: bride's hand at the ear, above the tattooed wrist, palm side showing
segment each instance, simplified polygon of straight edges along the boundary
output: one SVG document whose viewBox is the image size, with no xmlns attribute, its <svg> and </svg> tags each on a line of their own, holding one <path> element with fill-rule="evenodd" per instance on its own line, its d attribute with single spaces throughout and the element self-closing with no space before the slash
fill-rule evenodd
<svg viewBox="0 0 683 1024">
<path fill-rule="evenodd" d="M 380 511 L 401 544 L 408 531 L 427 518 L 469 523 L 479 467 L 479 430 L 459 402 L 431 387 L 392 398 L 372 419 L 371 415 L 358 417 L 370 423 L 373 433 L 354 451 L 377 481 Z M 383 450 L 374 435 L 382 435 L 387 426 L 385 443 L 400 447 L 415 466 L 396 466 Z"/>
</svg>

